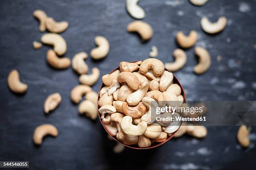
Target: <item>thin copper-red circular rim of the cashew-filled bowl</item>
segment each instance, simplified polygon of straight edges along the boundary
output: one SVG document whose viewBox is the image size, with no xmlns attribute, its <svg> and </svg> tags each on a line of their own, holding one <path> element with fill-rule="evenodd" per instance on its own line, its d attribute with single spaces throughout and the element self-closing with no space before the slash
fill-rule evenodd
<svg viewBox="0 0 256 170">
<path fill-rule="evenodd" d="M 143 60 L 138 60 L 138 61 L 143 61 Z M 131 62 L 138 62 L 138 61 L 131 61 Z M 114 72 L 115 70 L 120 70 L 120 67 L 116 67 L 116 68 L 115 68 L 114 70 L 112 70 L 109 74 L 111 74 L 111 73 Z M 164 70 L 171 72 L 171 71 L 168 70 L 166 67 L 164 67 Z M 179 82 L 179 80 L 177 79 L 177 77 L 174 75 L 173 72 L 172 72 L 172 74 L 173 74 L 173 82 L 177 83 L 177 84 L 181 87 L 181 94 L 182 94 L 182 96 L 183 96 L 183 98 L 184 98 L 184 102 L 186 102 L 187 99 L 186 99 L 185 91 L 184 91 L 184 89 L 183 89 L 181 83 Z M 103 82 L 102 82 L 102 83 L 101 83 L 101 86 L 100 86 L 100 90 L 101 90 L 102 87 L 104 87 L 104 86 L 105 86 L 105 85 L 104 85 Z M 98 92 L 97 101 L 99 101 L 99 98 L 100 98 L 100 90 L 99 90 L 99 92 Z M 99 105 L 97 105 L 97 109 L 99 110 Z M 101 117 L 100 112 L 98 112 L 98 117 L 99 117 L 99 119 L 100 119 L 101 125 L 103 126 L 103 128 L 105 129 L 105 131 L 108 133 L 108 135 L 110 135 L 110 133 L 108 132 L 108 130 L 105 128 L 105 126 L 104 126 L 104 124 L 103 124 L 103 122 L 102 122 L 102 119 L 100 118 L 100 117 Z M 182 124 L 182 123 L 181 123 L 181 124 Z M 180 128 L 181 124 L 179 125 L 179 128 Z M 160 146 L 160 145 L 163 145 L 164 143 L 166 143 L 167 141 L 169 141 L 170 139 L 172 139 L 172 137 L 173 137 L 173 136 L 175 135 L 175 133 L 179 130 L 179 128 L 178 128 L 174 133 L 172 133 L 172 135 L 170 135 L 168 138 L 166 138 L 166 140 L 164 140 L 163 142 L 159 142 L 159 143 L 157 143 L 156 145 L 152 145 L 152 146 L 150 146 L 150 147 L 148 147 L 148 148 L 139 148 L 139 147 L 135 147 L 134 145 L 125 145 L 124 143 L 120 142 L 119 140 L 117 140 L 117 139 L 116 139 L 115 137 L 113 137 L 112 135 L 110 135 L 110 136 L 111 136 L 111 138 L 112 138 L 113 140 L 115 140 L 116 142 L 118 142 L 118 143 L 120 143 L 120 144 L 122 144 L 122 145 L 125 145 L 125 146 L 128 147 L 128 148 L 138 149 L 138 150 L 145 150 L 145 149 L 156 148 L 156 147 L 158 147 L 158 146 Z"/>
</svg>

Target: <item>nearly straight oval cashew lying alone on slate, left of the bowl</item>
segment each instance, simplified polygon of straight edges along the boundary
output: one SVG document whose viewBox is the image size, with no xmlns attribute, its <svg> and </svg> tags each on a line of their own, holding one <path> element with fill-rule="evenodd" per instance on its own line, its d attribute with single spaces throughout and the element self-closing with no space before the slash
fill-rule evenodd
<svg viewBox="0 0 256 170">
<path fill-rule="evenodd" d="M 44 112 L 49 113 L 49 111 L 54 110 L 61 102 L 61 95 L 56 92 L 49 95 L 44 102 Z"/>
</svg>

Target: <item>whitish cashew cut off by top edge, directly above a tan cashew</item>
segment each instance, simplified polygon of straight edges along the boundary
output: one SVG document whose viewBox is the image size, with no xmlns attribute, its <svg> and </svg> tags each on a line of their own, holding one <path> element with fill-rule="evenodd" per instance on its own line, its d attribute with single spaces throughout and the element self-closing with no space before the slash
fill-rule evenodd
<svg viewBox="0 0 256 170">
<path fill-rule="evenodd" d="M 138 5 L 139 0 L 126 0 L 126 9 L 128 13 L 136 19 L 145 18 L 145 11 Z"/>
</svg>

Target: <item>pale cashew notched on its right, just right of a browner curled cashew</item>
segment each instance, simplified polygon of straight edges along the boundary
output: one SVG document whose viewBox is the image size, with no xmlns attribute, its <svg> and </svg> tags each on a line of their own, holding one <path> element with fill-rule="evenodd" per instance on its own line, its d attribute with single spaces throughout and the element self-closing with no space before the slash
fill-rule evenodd
<svg viewBox="0 0 256 170">
<path fill-rule="evenodd" d="M 88 72 L 89 67 L 84 61 L 84 59 L 87 59 L 87 57 L 88 55 L 86 52 L 78 52 L 74 55 L 72 59 L 72 68 L 78 74 L 86 74 Z"/>
</svg>

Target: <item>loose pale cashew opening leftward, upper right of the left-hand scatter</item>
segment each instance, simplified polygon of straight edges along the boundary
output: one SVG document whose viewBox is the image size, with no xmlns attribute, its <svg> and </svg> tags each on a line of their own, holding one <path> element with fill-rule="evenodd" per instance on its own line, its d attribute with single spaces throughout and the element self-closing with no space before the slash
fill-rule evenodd
<svg viewBox="0 0 256 170">
<path fill-rule="evenodd" d="M 106 57 L 110 48 L 108 40 L 105 37 L 96 36 L 94 41 L 98 47 L 91 50 L 91 57 L 95 60 Z"/>
</svg>

